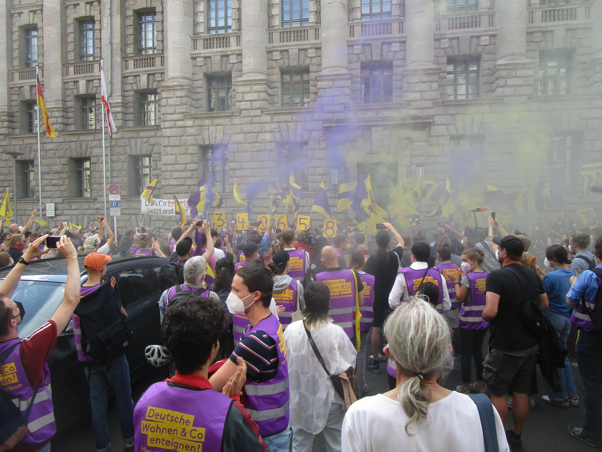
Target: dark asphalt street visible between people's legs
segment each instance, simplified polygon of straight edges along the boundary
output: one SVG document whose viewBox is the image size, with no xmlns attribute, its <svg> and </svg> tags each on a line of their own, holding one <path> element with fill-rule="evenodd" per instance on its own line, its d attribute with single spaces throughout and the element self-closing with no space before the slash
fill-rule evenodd
<svg viewBox="0 0 602 452">
<path fill-rule="evenodd" d="M 368 347 L 370 350 L 370 347 Z M 484 353 L 486 350 L 484 350 Z M 371 354 L 368 351 L 368 354 Z M 571 358 L 574 362 L 575 359 Z M 366 372 L 366 381 L 370 387 L 367 396 L 379 394 L 388 391 L 388 383 L 386 378 L 386 363 L 380 363 L 382 372 L 373 374 Z M 573 369 L 575 383 L 579 397 L 582 398 L 583 391 L 579 371 Z M 132 398 L 137 401 L 140 395 L 146 388 L 163 378 L 163 371 L 153 372 L 146 377 L 138 380 L 132 385 Z M 474 369 L 473 369 L 474 375 Z M 455 389 L 456 385 L 461 383 L 461 375 L 459 369 L 459 360 L 456 361 L 455 369 L 449 375 L 445 382 L 445 387 Z M 535 409 L 530 410 L 529 418 L 523 430 L 523 451 L 524 452 L 549 452 L 549 451 L 587 451 L 594 448 L 584 442 L 574 439 L 569 435 L 568 425 L 582 425 L 585 418 L 585 409 L 583 400 L 580 400 L 578 407 L 559 408 L 550 406 L 545 403 L 541 396 L 545 395 L 544 381 L 538 372 L 538 389 L 539 394 L 535 396 Z M 392 420 L 393 422 L 393 420 Z M 461 422 L 461 419 L 450 419 L 450 422 Z M 512 418 L 509 416 L 507 425 L 512 425 Z M 111 435 L 111 451 L 117 452 L 123 450 L 123 441 L 119 429 L 119 421 L 117 420 L 117 412 L 114 401 L 110 401 L 108 407 L 108 425 Z M 383 425 L 383 427 L 385 427 Z M 392 427 L 389 426 L 389 427 Z M 402 425 L 399 428 L 403 428 Z M 89 413 L 82 415 L 70 428 L 61 432 L 52 440 L 52 452 L 95 452 L 94 437 L 92 433 L 92 424 Z M 445 447 L 442 444 L 441 451 Z M 321 437 L 318 435 L 314 442 L 314 451 L 326 451 Z"/>
</svg>

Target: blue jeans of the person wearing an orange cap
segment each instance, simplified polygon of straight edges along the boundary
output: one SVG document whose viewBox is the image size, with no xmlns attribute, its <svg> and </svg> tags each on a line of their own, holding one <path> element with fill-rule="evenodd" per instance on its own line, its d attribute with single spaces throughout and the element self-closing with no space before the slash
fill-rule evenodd
<svg viewBox="0 0 602 452">
<path fill-rule="evenodd" d="M 85 369 L 86 375 L 88 369 Z M 129 384 L 129 366 L 125 354 L 111 363 L 107 372 L 105 366 L 92 364 L 90 368 L 90 408 L 92 410 L 92 429 L 97 452 L 108 452 L 110 446 L 107 425 L 108 388 L 115 392 L 119 425 L 123 442 L 134 441 L 134 401 Z"/>
</svg>

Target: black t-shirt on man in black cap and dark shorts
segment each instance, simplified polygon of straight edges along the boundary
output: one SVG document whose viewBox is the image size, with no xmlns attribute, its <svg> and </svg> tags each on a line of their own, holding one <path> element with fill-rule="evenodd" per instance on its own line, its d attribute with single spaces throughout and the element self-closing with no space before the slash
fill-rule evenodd
<svg viewBox="0 0 602 452">
<path fill-rule="evenodd" d="M 533 291 L 529 290 L 508 268 L 517 272 Z M 538 275 L 524 265 L 506 265 L 489 273 L 485 291 L 500 295 L 497 315 L 489 322 L 491 333 L 489 345 L 506 351 L 535 347 L 538 344 L 537 337 L 529 331 L 521 319 L 525 301 L 534 300 L 536 293 L 545 293 L 544 284 Z"/>
</svg>

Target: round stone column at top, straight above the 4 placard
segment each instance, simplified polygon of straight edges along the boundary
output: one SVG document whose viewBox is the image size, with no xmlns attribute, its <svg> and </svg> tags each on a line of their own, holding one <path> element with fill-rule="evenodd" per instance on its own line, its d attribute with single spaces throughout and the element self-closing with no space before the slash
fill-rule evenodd
<svg viewBox="0 0 602 452">
<path fill-rule="evenodd" d="M 267 78 L 267 0 L 244 0 L 241 4 L 243 28 L 243 79 Z"/>
</svg>

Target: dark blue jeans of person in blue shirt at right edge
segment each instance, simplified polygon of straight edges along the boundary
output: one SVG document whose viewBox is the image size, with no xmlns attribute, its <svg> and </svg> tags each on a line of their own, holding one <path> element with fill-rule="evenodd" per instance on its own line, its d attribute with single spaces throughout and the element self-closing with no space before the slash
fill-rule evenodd
<svg viewBox="0 0 602 452">
<path fill-rule="evenodd" d="M 602 387 L 602 334 L 581 330 L 577 341 L 577 363 L 583 380 L 585 424 L 582 435 L 600 440 L 600 388 Z"/>
</svg>

